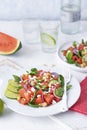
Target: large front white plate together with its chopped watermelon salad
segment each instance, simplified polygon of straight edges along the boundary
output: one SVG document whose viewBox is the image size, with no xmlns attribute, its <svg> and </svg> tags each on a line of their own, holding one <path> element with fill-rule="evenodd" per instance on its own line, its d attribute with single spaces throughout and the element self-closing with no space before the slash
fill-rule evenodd
<svg viewBox="0 0 87 130">
<path fill-rule="evenodd" d="M 41 78 L 39 74 L 42 75 Z M 27 116 L 38 117 L 61 113 L 64 92 L 64 76 L 61 74 L 62 69 L 56 66 L 30 67 L 27 72 L 24 70 L 20 73 L 15 72 L 12 76 L 8 75 L 5 82 L 3 81 L 1 98 L 11 110 Z M 72 86 L 67 93 L 68 108 L 70 108 L 80 96 L 80 85 L 73 76 L 68 85 Z"/>
</svg>

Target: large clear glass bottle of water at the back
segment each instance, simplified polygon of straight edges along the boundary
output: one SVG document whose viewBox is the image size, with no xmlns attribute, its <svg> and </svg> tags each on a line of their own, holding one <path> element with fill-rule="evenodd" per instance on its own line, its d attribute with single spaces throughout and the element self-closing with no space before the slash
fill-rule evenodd
<svg viewBox="0 0 87 130">
<path fill-rule="evenodd" d="M 61 0 L 61 31 L 75 34 L 80 29 L 81 0 Z"/>
</svg>

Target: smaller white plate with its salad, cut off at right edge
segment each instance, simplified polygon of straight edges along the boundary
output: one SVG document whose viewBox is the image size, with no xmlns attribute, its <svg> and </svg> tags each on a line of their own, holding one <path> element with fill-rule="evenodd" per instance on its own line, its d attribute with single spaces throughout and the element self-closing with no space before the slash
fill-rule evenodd
<svg viewBox="0 0 87 130">
<path fill-rule="evenodd" d="M 58 50 L 58 58 L 76 71 L 87 72 L 87 41 L 64 43 Z"/>
</svg>

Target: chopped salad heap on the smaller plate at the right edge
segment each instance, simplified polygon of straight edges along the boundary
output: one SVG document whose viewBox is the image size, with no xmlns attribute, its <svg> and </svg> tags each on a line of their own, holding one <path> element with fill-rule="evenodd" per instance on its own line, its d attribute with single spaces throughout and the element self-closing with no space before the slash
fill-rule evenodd
<svg viewBox="0 0 87 130">
<path fill-rule="evenodd" d="M 66 62 L 84 68 L 87 66 L 87 41 L 82 39 L 81 43 L 74 41 L 72 45 L 62 50 Z"/>
</svg>

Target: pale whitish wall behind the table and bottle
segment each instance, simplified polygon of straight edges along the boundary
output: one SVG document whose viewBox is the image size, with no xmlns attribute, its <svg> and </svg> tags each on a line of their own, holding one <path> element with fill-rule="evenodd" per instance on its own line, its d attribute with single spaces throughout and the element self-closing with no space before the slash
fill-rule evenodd
<svg viewBox="0 0 87 130">
<path fill-rule="evenodd" d="M 61 0 L 0 0 L 0 20 L 59 19 Z M 87 19 L 87 1 L 81 0 L 81 18 Z"/>
</svg>

